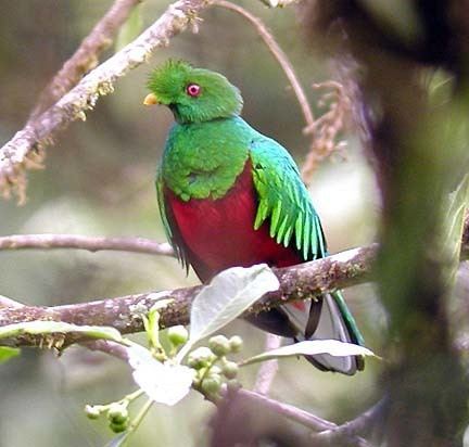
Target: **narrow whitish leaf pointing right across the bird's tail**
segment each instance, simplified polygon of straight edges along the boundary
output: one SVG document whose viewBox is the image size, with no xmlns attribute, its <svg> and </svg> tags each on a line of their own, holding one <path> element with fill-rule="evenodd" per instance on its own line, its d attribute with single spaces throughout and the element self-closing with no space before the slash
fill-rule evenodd
<svg viewBox="0 0 469 447">
<path fill-rule="evenodd" d="M 246 365 L 257 363 L 272 358 L 315 356 L 317 354 L 329 354 L 334 357 L 378 357 L 370 349 L 352 343 L 339 342 L 338 340 L 308 340 L 305 342 L 294 343 L 293 345 L 282 346 L 277 349 L 267 350 L 266 353 L 251 357 L 248 360 L 243 360 L 240 366 L 243 367 Z"/>
</svg>

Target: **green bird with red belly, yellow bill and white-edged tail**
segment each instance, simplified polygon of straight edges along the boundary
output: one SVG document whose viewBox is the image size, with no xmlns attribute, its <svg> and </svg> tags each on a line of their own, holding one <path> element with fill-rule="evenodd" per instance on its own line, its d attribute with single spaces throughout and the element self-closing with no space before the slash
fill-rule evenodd
<svg viewBox="0 0 469 447">
<path fill-rule="evenodd" d="M 328 255 L 325 233 L 299 168 L 276 140 L 241 116 L 240 90 L 221 74 L 168 60 L 148 80 L 145 105 L 174 115 L 156 173 L 163 226 L 186 269 L 203 283 L 230 267 L 288 267 Z M 340 291 L 248 317 L 293 339 L 364 345 Z M 322 371 L 364 369 L 360 356 L 306 356 Z"/>
</svg>

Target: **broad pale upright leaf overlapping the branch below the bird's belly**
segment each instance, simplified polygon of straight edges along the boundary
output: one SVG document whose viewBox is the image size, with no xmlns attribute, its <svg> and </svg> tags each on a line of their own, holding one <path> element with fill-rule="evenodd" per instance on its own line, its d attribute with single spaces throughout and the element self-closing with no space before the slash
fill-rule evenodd
<svg viewBox="0 0 469 447">
<path fill-rule="evenodd" d="M 279 286 L 277 277 L 265 264 L 221 271 L 195 296 L 189 341 L 177 355 L 177 360 L 180 361 L 197 342 L 238 318 L 263 295 Z"/>
</svg>

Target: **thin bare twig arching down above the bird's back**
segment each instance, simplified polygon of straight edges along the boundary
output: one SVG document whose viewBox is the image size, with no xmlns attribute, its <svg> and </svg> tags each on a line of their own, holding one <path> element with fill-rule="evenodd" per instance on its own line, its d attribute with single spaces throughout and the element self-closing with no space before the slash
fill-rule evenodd
<svg viewBox="0 0 469 447">
<path fill-rule="evenodd" d="M 211 3 L 215 4 L 216 7 L 226 8 L 228 10 L 237 12 L 238 14 L 241 14 L 243 17 L 248 18 L 254 25 L 254 28 L 256 29 L 257 34 L 262 37 L 265 44 L 269 49 L 270 53 L 274 54 L 274 58 L 278 61 L 278 63 L 282 67 L 284 74 L 287 75 L 293 88 L 293 91 L 297 98 L 297 101 L 300 103 L 301 110 L 303 112 L 306 122 L 305 129 L 314 126 L 314 115 L 310 110 L 309 102 L 306 98 L 303 87 L 301 86 L 294 73 L 293 66 L 290 63 L 287 54 L 283 52 L 283 50 L 279 47 L 277 41 L 275 40 L 274 36 L 267 30 L 264 23 L 258 17 L 256 17 L 255 15 L 246 11 L 244 8 L 231 3 L 230 1 L 211 0 Z"/>
</svg>

